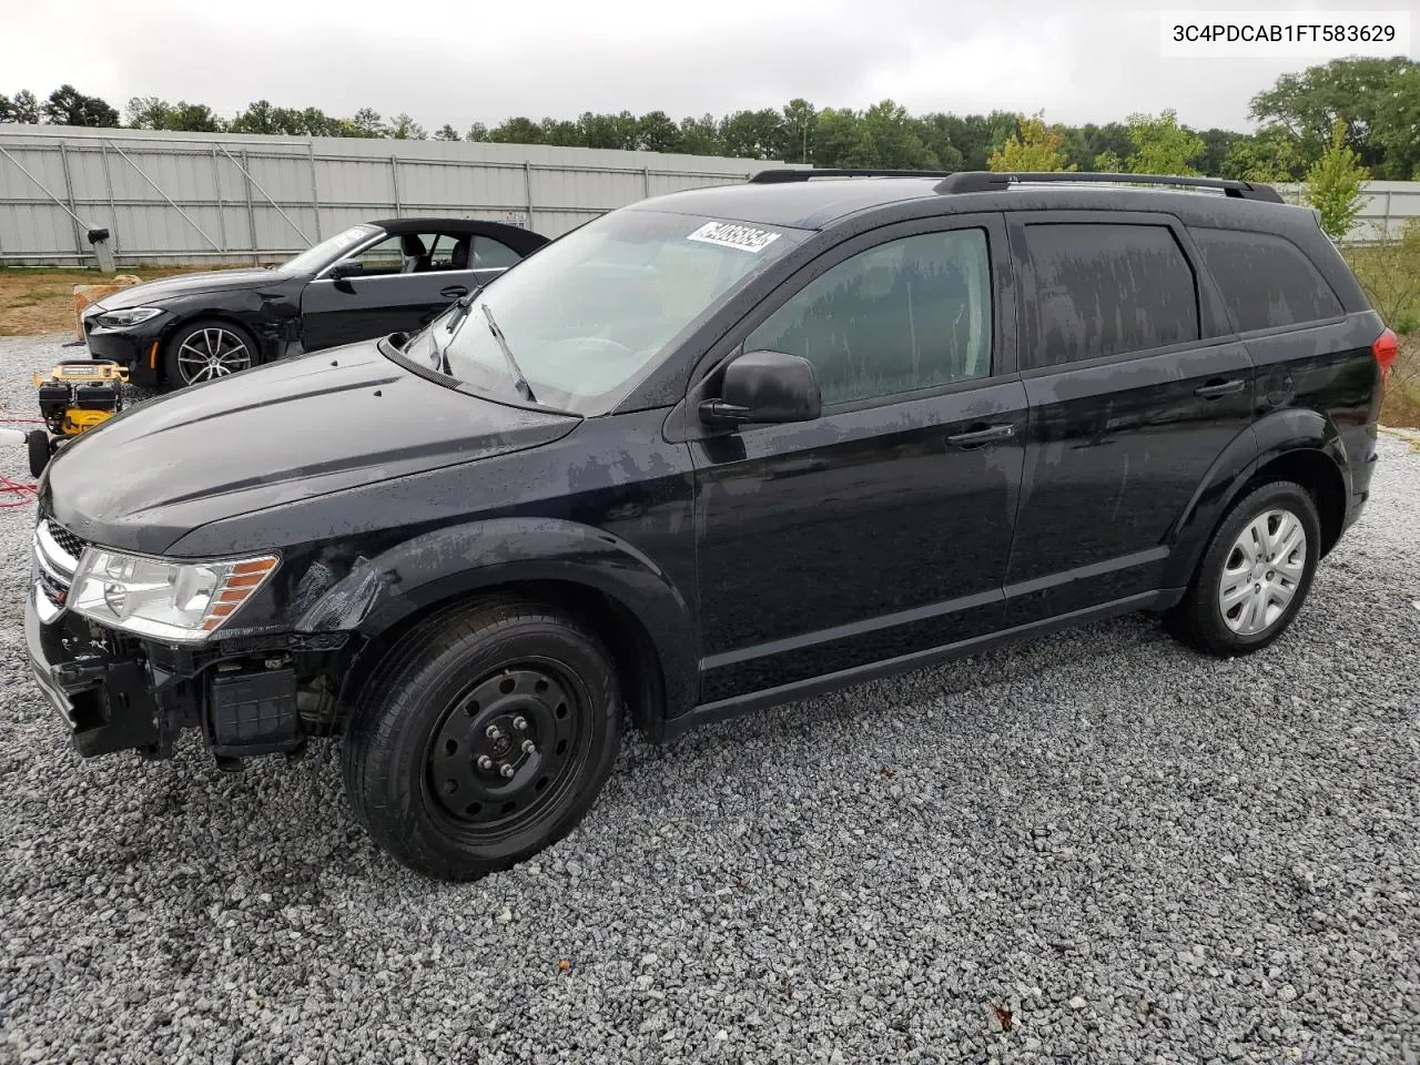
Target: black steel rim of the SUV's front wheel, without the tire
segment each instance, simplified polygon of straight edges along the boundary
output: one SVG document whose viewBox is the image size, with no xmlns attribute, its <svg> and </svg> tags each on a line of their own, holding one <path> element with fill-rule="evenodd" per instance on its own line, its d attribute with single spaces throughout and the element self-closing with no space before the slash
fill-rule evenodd
<svg viewBox="0 0 1420 1065">
<path fill-rule="evenodd" d="M 537 828 L 581 775 L 591 747 L 581 682 L 548 660 L 484 674 L 440 716 L 425 753 L 426 805 L 464 843 Z"/>
</svg>

